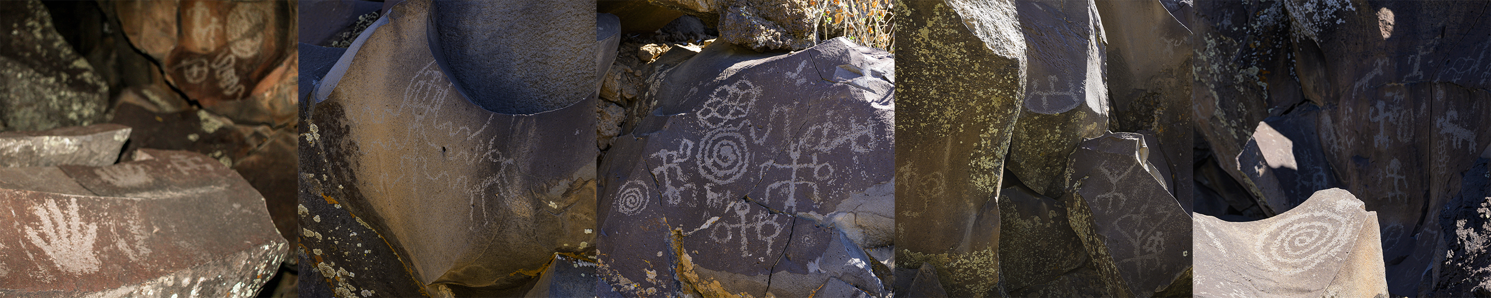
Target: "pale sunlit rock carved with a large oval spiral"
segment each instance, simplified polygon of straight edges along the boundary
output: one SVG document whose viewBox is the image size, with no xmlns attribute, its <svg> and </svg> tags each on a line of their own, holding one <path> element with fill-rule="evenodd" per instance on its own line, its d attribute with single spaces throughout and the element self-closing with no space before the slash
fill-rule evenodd
<svg viewBox="0 0 1491 298">
<path fill-rule="evenodd" d="M 1336 188 L 1254 222 L 1196 215 L 1196 297 L 1387 297 L 1376 215 Z"/>
</svg>

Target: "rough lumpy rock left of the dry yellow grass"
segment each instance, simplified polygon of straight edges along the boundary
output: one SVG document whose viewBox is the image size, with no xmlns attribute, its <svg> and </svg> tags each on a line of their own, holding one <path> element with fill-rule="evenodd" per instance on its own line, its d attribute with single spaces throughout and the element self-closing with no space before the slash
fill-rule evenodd
<svg viewBox="0 0 1491 298">
<path fill-rule="evenodd" d="M 717 24 L 720 39 L 759 52 L 801 51 L 817 40 L 817 9 L 807 0 L 650 0 Z"/>
</svg>

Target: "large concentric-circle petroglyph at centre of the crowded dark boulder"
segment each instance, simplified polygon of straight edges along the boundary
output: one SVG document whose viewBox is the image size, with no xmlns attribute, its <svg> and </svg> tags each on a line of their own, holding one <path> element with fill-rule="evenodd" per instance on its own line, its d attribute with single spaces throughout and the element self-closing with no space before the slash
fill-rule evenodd
<svg viewBox="0 0 1491 298">
<path fill-rule="evenodd" d="M 750 149 L 738 130 L 714 130 L 699 143 L 699 173 L 714 183 L 731 183 L 746 174 Z"/>
</svg>

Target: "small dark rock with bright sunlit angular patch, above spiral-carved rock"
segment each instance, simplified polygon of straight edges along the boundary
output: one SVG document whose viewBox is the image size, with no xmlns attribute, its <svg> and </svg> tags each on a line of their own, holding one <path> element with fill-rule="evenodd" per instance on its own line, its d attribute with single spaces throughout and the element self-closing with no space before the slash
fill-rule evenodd
<svg viewBox="0 0 1491 298">
<path fill-rule="evenodd" d="M 1260 122 L 1238 155 L 1245 185 L 1269 213 L 1284 213 L 1320 189 L 1340 186 L 1315 134 L 1314 106 Z"/>
</svg>

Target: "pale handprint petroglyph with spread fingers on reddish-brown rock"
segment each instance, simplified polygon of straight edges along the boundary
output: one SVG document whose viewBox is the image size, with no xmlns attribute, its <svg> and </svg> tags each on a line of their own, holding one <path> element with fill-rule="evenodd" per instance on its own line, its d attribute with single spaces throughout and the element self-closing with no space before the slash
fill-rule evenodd
<svg viewBox="0 0 1491 298">
<path fill-rule="evenodd" d="M 63 210 L 55 200 L 46 200 L 46 206 L 33 206 L 37 226 L 25 226 L 25 238 L 31 244 L 42 247 L 46 256 L 52 258 L 57 268 L 69 274 L 88 274 L 98 271 L 98 258 L 94 255 L 94 241 L 98 238 L 98 225 L 83 222 L 78 213 L 78 198 L 67 203 Z"/>
</svg>

